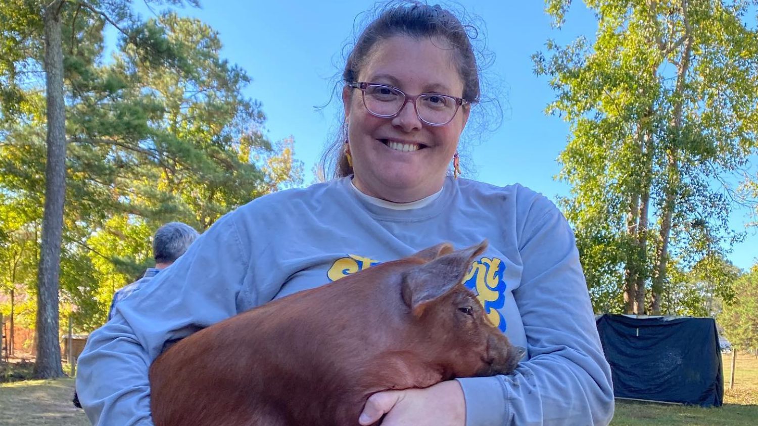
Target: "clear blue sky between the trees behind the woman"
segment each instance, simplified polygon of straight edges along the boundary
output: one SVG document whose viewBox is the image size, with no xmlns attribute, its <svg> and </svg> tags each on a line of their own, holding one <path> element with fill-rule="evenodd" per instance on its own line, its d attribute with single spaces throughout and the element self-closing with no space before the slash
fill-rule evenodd
<svg viewBox="0 0 758 426">
<path fill-rule="evenodd" d="M 142 2 L 141 13 L 149 14 Z M 519 182 L 551 199 L 568 194 L 557 182 L 556 158 L 566 143 L 568 123 L 546 116 L 553 100 L 547 78 L 532 71 L 531 54 L 544 50 L 547 39 L 565 44 L 579 35 L 594 38 L 594 15 L 575 1 L 562 30 L 553 30 L 540 0 L 462 0 L 465 11 L 485 24 L 487 49 L 495 61 L 485 72 L 489 95 L 500 93 L 503 121 L 493 132 L 469 135 L 474 177 L 494 185 Z M 252 77 L 247 94 L 262 102 L 271 140 L 292 135 L 297 159 L 305 164 L 305 183 L 312 166 L 337 125 L 339 98 L 332 98 L 335 76 L 343 65 L 343 47 L 352 40 L 356 16 L 374 7 L 365 0 L 293 2 L 287 0 L 205 0 L 202 9 L 182 14 L 199 17 L 221 35 L 224 57 Z M 360 17 L 359 17 L 360 20 Z M 485 92 L 484 95 L 488 93 Z M 315 106 L 327 107 L 317 110 Z M 491 122 L 492 120 L 490 120 Z M 471 164 L 468 164 L 471 169 Z M 732 226 L 744 229 L 747 210 L 731 215 Z M 747 269 L 758 255 L 756 230 L 729 257 Z"/>
</svg>

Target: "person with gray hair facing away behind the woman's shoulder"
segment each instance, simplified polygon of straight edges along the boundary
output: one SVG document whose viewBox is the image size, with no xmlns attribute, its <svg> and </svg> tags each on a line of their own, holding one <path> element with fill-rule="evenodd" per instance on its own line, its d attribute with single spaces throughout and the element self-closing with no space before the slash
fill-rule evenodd
<svg viewBox="0 0 758 426">
<path fill-rule="evenodd" d="M 120 288 L 113 294 L 111 308 L 108 309 L 108 321 L 113 318 L 113 309 L 117 303 L 145 285 L 162 269 L 171 266 L 171 263 L 179 259 L 198 237 L 199 233 L 192 226 L 182 222 L 168 222 L 158 228 L 152 237 L 152 257 L 155 260 L 155 267 L 148 268 L 142 278 Z"/>
</svg>

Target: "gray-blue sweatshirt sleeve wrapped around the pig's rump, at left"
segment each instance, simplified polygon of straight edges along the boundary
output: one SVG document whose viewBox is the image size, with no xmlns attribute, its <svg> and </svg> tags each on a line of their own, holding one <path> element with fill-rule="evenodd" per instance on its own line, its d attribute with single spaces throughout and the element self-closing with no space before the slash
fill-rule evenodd
<svg viewBox="0 0 758 426">
<path fill-rule="evenodd" d="M 121 300 L 79 358 L 77 393 L 95 425 L 152 426 L 149 366 L 164 345 L 237 313 L 249 247 L 235 212 L 219 219 L 173 265 Z"/>
</svg>

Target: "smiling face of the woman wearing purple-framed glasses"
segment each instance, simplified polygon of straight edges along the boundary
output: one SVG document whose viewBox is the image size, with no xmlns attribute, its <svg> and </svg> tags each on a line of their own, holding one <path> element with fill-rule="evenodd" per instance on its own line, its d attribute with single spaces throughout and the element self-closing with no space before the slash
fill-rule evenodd
<svg viewBox="0 0 758 426">
<path fill-rule="evenodd" d="M 439 93 L 460 98 L 463 82 L 453 51 L 446 47 L 443 39 L 384 39 L 369 52 L 358 81 L 394 86 L 408 96 Z M 418 119 L 411 101 L 393 118 L 371 115 L 360 89 L 346 87 L 343 103 L 357 188 L 396 203 L 420 200 L 442 188 L 468 107 L 460 107 L 446 125 L 430 126 Z"/>
</svg>

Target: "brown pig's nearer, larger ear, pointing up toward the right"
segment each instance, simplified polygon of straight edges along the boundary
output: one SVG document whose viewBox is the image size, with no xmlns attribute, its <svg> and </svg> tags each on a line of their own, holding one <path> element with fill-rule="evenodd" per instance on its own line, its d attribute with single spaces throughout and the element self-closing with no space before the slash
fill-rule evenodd
<svg viewBox="0 0 758 426">
<path fill-rule="evenodd" d="M 429 303 L 453 290 L 471 267 L 471 260 L 487 247 L 480 244 L 445 254 L 402 275 L 402 300 L 416 317 L 424 313 Z"/>
</svg>

